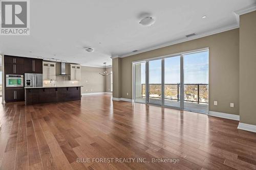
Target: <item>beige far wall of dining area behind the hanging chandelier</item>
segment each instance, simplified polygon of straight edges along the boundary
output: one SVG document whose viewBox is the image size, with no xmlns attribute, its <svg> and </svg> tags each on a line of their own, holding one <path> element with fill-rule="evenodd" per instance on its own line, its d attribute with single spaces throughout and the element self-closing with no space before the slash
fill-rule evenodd
<svg viewBox="0 0 256 170">
<path fill-rule="evenodd" d="M 82 93 L 105 91 L 105 77 L 101 76 L 99 72 L 103 72 L 103 68 L 81 66 Z"/>
</svg>

